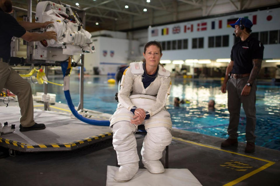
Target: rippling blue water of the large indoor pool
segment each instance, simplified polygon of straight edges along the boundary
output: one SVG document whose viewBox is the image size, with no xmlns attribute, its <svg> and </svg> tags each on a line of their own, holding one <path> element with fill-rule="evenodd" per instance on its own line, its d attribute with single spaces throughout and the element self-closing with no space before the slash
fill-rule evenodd
<svg viewBox="0 0 280 186">
<path fill-rule="evenodd" d="M 85 76 L 84 108 L 113 114 L 117 106 L 115 93 L 117 85 L 108 84 L 107 76 Z M 49 76 L 50 81 L 63 83 L 62 77 Z M 79 103 L 79 77 L 71 76 L 70 93 L 75 106 Z M 221 82 L 213 80 L 190 80 L 172 78 L 171 94 L 168 97 L 167 109 L 171 114 L 174 128 L 191 132 L 227 138 L 229 112 L 227 94 L 220 91 Z M 43 92 L 43 86 L 31 84 L 32 92 Z M 48 85 L 48 92 L 56 94 L 56 101 L 66 103 L 62 87 Z M 255 129 L 256 145 L 280 150 L 280 85 L 258 82 L 257 89 L 257 125 Z M 180 107 L 173 106 L 175 97 L 187 100 Z M 208 101 L 215 100 L 215 110 L 208 110 Z M 246 115 L 241 107 L 238 128 L 240 142 L 245 139 Z"/>
</svg>

